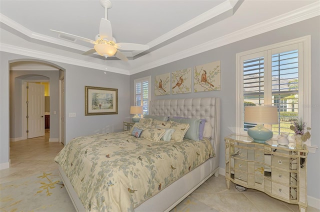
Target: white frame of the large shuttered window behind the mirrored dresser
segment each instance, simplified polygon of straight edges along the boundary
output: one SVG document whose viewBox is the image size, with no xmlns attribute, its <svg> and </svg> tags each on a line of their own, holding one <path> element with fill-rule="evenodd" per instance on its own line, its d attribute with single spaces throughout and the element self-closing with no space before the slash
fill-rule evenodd
<svg viewBox="0 0 320 212">
<path fill-rule="evenodd" d="M 299 108 L 298 108 L 298 115 L 299 118 L 303 118 L 303 121 L 306 123 L 308 127 L 311 127 L 311 36 L 303 36 L 243 52 L 236 53 L 236 78 L 235 78 L 235 133 L 237 134 L 247 134 L 246 131 L 243 130 L 243 66 L 242 62 L 245 60 L 245 55 L 254 54 L 260 55 L 261 52 L 266 50 L 271 50 L 274 48 L 280 48 L 292 44 L 297 44 L 300 49 L 303 49 L 303 61 L 298 61 L 299 65 L 302 65 L 303 71 L 299 71 L 298 78 L 299 82 L 302 81 L 303 83 L 298 84 L 298 95 L 299 95 Z M 244 58 L 244 59 L 243 59 Z M 264 55 L 265 64 L 270 65 L 271 63 L 268 62 L 268 58 Z M 271 75 L 267 76 L 271 77 Z M 264 89 L 267 89 L 271 92 L 271 89 L 265 85 Z M 271 96 L 271 95 L 269 95 Z M 273 135 L 275 138 L 277 135 Z M 292 138 L 290 138 L 292 140 Z M 311 145 L 311 139 L 308 139 L 305 142 L 306 145 Z"/>
</svg>

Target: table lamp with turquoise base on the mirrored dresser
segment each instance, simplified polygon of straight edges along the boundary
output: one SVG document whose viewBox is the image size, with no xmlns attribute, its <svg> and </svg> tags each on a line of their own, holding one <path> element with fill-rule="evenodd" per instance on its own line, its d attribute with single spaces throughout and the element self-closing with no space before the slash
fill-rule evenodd
<svg viewBox="0 0 320 212">
<path fill-rule="evenodd" d="M 256 126 L 248 128 L 248 135 L 254 142 L 264 143 L 266 140 L 272 138 L 273 133 L 262 124 L 278 123 L 277 106 L 245 106 L 244 122 L 256 123 Z"/>
</svg>

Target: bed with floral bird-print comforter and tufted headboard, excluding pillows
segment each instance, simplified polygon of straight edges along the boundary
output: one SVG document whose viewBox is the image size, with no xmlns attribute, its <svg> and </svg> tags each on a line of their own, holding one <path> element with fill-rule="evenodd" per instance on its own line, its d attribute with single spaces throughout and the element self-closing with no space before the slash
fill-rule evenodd
<svg viewBox="0 0 320 212">
<path fill-rule="evenodd" d="M 63 150 L 64 148 L 61 150 L 57 156 L 59 158 L 56 157 L 55 160 L 58 162 L 60 176 L 77 211 L 169 211 L 210 176 L 218 175 L 219 98 L 153 100 L 150 101 L 150 114 L 205 119 L 211 127 L 209 139 L 193 141 L 184 138 L 182 142 L 161 140 L 153 142 L 152 139 L 136 138 L 128 132 L 75 138 L 75 141 L 70 141 L 64 147 L 67 150 Z M 111 144 L 112 139 L 116 142 Z M 73 143 L 72 147 L 70 143 Z M 104 146 L 103 150 L 96 153 L 97 148 L 102 149 L 101 146 Z M 108 152 L 114 146 L 118 149 Z M 145 149 L 142 148 L 143 146 Z M 188 152 L 187 147 L 190 146 L 194 152 L 191 150 Z M 212 150 L 208 146 L 212 146 Z M 169 148 L 175 152 L 168 153 L 162 148 Z M 176 163 L 177 155 L 181 153 L 184 159 L 179 162 L 181 164 L 179 165 Z M 128 163 L 130 157 L 132 161 Z M 85 158 L 89 158 L 88 164 L 83 162 Z M 95 162 L 98 160 L 92 158 L 105 160 Z M 115 160 L 110 162 L 110 158 Z M 199 164 L 196 164 L 196 160 Z M 111 167 L 111 163 L 116 164 L 115 168 L 108 168 Z M 155 168 L 156 163 L 165 164 L 166 170 L 163 167 Z M 139 164 L 142 166 L 138 166 Z M 101 170 L 98 169 L 101 167 Z M 150 178 L 139 175 L 142 169 L 149 170 Z M 120 173 L 116 170 L 120 170 Z M 168 175 L 165 175 L 165 171 Z M 124 178 L 124 175 L 130 179 Z M 140 178 L 144 179 L 143 184 L 136 182 Z M 97 187 L 97 181 L 102 182 L 102 186 Z M 80 188 L 78 188 L 79 185 Z M 117 186 L 122 189 L 113 191 L 112 189 Z"/>
</svg>

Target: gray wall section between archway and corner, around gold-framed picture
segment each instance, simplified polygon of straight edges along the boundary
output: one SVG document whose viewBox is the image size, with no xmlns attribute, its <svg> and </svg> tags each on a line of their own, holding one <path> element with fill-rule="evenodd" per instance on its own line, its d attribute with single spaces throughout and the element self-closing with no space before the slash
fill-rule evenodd
<svg viewBox="0 0 320 212">
<path fill-rule="evenodd" d="M 63 67 L 66 143 L 75 136 L 123 130 L 122 121 L 130 116 L 129 76 L 70 64 Z M 84 116 L 84 86 L 117 88 L 118 114 Z M 76 117 L 68 117 L 69 112 L 76 112 Z"/>
</svg>

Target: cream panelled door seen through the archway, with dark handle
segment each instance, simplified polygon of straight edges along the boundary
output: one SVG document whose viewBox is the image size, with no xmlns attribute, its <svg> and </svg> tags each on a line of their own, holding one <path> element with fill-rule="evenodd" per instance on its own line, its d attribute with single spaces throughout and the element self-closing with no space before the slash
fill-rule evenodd
<svg viewBox="0 0 320 212">
<path fill-rule="evenodd" d="M 44 136 L 44 85 L 28 82 L 28 138 Z"/>
</svg>

